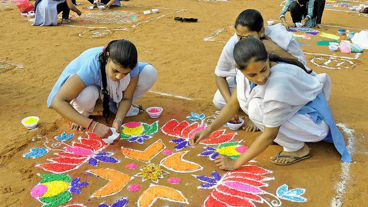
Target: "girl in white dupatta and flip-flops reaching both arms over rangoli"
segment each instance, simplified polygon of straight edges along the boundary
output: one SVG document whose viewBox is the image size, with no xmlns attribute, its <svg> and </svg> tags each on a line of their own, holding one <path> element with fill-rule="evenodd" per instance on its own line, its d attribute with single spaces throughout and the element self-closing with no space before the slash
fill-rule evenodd
<svg viewBox="0 0 368 207">
<path fill-rule="evenodd" d="M 232 160 L 218 156 L 220 169 L 234 170 L 247 163 L 275 141 L 283 151 L 270 158 L 278 165 L 289 165 L 309 158 L 305 142 L 331 141 L 342 155 L 351 161 L 342 134 L 337 129 L 327 104 L 330 79 L 327 74 L 310 75 L 297 60 L 268 55 L 263 43 L 245 38 L 234 47 L 238 70 L 237 88 L 231 101 L 206 129 L 195 133 L 190 144 L 196 145 L 243 109 L 263 133 L 248 151 Z"/>
</svg>

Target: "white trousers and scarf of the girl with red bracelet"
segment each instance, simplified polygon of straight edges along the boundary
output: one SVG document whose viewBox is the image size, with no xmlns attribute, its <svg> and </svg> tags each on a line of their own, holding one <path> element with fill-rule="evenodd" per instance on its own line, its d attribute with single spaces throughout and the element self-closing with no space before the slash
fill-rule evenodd
<svg viewBox="0 0 368 207">
<path fill-rule="evenodd" d="M 118 103 L 123 98 L 123 91 L 126 90 L 130 83 L 130 75 L 128 74 L 119 82 L 113 83 L 113 81 L 107 78 L 107 91 L 110 94 L 110 97 L 116 102 L 117 107 Z M 141 73 L 139 73 L 138 83 L 135 87 L 133 102 L 137 101 L 142 97 L 150 88 L 152 88 L 153 84 L 156 83 L 157 80 L 157 70 L 151 64 L 146 65 Z M 110 83 L 109 83 L 110 82 Z M 70 103 L 75 110 L 81 113 L 83 116 L 92 115 L 93 110 L 95 109 L 96 101 L 98 98 L 103 98 L 98 87 L 95 85 L 89 85 L 85 87 L 79 95 L 73 99 Z M 135 116 L 139 113 L 139 109 L 131 106 L 126 117 Z"/>
</svg>

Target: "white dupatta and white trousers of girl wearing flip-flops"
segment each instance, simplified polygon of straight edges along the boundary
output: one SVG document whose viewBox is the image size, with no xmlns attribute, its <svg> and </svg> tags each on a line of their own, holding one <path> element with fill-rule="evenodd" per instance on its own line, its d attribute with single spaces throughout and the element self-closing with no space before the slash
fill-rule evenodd
<svg viewBox="0 0 368 207">
<path fill-rule="evenodd" d="M 329 126 L 325 121 L 316 124 L 309 115 L 297 113 L 322 91 L 329 99 L 331 85 L 327 74 L 312 76 L 297 66 L 277 64 L 270 69 L 267 82 L 252 90 L 241 71 L 236 81 L 241 109 L 261 131 L 265 127 L 280 126 L 274 141 L 283 146 L 284 151 L 298 151 L 305 142 L 321 141 L 328 135 Z"/>
</svg>

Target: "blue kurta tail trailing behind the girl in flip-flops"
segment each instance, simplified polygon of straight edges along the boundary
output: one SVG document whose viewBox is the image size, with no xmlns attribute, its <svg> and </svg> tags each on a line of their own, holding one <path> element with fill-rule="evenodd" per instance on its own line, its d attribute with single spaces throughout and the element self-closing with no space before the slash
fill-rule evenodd
<svg viewBox="0 0 368 207">
<path fill-rule="evenodd" d="M 330 131 L 323 141 L 332 142 L 335 145 L 336 150 L 341 154 L 342 161 L 352 161 L 351 155 L 346 148 L 344 137 L 335 124 L 331 109 L 323 93 L 318 94 L 313 101 L 307 103 L 297 113 L 308 114 L 316 124 L 320 124 L 324 120 Z"/>
</svg>

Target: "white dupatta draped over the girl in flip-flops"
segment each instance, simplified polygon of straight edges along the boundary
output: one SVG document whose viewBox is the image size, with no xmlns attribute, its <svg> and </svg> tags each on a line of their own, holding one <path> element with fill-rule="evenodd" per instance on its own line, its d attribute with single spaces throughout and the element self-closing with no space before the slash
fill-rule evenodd
<svg viewBox="0 0 368 207">
<path fill-rule="evenodd" d="M 291 64 L 277 64 L 270 70 L 267 82 L 257 85 L 253 90 L 240 70 L 236 76 L 241 109 L 248 114 L 250 101 L 261 98 L 264 106 L 263 124 L 267 127 L 280 126 L 322 91 L 329 99 L 331 84 L 327 74 L 309 75 Z"/>
</svg>

